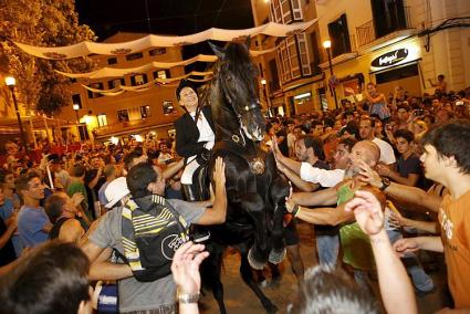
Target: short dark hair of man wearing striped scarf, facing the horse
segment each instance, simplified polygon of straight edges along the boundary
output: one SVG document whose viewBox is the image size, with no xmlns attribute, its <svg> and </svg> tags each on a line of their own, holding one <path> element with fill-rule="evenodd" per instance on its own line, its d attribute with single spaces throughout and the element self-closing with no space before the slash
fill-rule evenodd
<svg viewBox="0 0 470 314">
<path fill-rule="evenodd" d="M 158 178 L 154 166 L 148 163 L 139 163 L 127 172 L 126 182 L 133 198 L 143 198 L 152 192 L 148 185 L 155 182 Z"/>
</svg>

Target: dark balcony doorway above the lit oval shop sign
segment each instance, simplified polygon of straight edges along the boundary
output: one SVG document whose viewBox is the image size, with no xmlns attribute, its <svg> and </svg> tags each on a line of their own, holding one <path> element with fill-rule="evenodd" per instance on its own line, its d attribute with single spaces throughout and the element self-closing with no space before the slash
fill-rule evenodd
<svg viewBox="0 0 470 314">
<path fill-rule="evenodd" d="M 406 29 L 403 0 L 370 0 L 377 38 Z"/>
</svg>

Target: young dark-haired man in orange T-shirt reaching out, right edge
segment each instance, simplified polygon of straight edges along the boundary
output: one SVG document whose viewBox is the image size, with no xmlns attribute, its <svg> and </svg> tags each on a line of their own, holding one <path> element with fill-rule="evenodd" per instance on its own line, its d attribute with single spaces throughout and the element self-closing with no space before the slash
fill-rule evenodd
<svg viewBox="0 0 470 314">
<path fill-rule="evenodd" d="M 430 130 L 422 144 L 425 153 L 420 159 L 426 177 L 449 189 L 443 198 L 380 179 L 366 165 L 362 175 L 388 196 L 439 213 L 441 237 L 401 239 L 394 247 L 401 254 L 420 249 L 443 252 L 453 311 L 470 313 L 470 122 L 457 121 Z"/>
</svg>

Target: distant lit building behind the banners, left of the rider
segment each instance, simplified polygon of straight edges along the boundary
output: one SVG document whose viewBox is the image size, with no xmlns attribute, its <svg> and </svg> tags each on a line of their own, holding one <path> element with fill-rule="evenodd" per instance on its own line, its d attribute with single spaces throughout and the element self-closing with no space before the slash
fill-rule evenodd
<svg viewBox="0 0 470 314">
<path fill-rule="evenodd" d="M 117 33 L 105 43 L 118 43 L 137 40 L 147 34 Z M 97 69 L 136 67 L 153 61 L 178 62 L 182 60 L 181 48 L 152 48 L 127 55 L 92 56 Z M 146 73 L 132 73 L 124 77 L 105 77 L 100 80 L 77 78 L 72 87 L 71 105 L 64 107 L 60 118 L 75 122 L 80 125 L 76 136 L 81 140 L 108 140 L 111 137 L 127 138 L 128 136 L 145 136 L 149 133 L 159 138 L 173 136 L 173 123 L 181 114 L 175 90 L 178 84 L 155 84 L 142 92 L 124 92 L 116 96 L 94 93 L 82 85 L 96 90 L 111 90 L 119 85 L 138 86 L 154 78 L 171 78 L 185 75 L 184 66 L 171 69 L 153 69 Z M 75 111 L 73 105 L 79 105 Z"/>
</svg>

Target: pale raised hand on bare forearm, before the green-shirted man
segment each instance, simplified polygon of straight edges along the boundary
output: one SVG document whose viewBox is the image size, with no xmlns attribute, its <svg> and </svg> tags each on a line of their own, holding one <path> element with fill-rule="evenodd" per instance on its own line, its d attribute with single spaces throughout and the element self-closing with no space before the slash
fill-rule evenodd
<svg viewBox="0 0 470 314">
<path fill-rule="evenodd" d="M 345 205 L 344 210 L 354 212 L 361 229 L 368 236 L 377 234 L 384 229 L 380 202 L 369 191 L 356 191 L 355 198 Z"/>
</svg>

